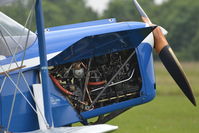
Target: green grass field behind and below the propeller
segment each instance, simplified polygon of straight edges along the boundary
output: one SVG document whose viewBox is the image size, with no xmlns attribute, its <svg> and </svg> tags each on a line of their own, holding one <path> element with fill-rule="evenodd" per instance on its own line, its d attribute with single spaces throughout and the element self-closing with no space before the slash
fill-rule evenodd
<svg viewBox="0 0 199 133">
<path fill-rule="evenodd" d="M 182 63 L 199 104 L 199 63 Z M 184 97 L 162 64 L 155 63 L 157 97 L 109 122 L 114 133 L 199 133 L 199 107 Z"/>
</svg>

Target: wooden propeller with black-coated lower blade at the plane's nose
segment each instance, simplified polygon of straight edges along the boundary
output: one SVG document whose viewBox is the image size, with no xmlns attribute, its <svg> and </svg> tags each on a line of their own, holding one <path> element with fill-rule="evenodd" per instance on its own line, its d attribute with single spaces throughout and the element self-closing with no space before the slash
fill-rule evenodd
<svg viewBox="0 0 199 133">
<path fill-rule="evenodd" d="M 133 0 L 133 3 L 135 4 L 138 12 L 140 13 L 140 16 L 142 20 L 149 25 L 152 25 L 151 20 L 146 15 L 142 7 L 139 5 L 137 0 Z M 175 56 L 173 50 L 168 45 L 168 42 L 163 35 L 161 29 L 157 27 L 154 31 L 154 43 L 155 43 L 155 50 L 159 54 L 159 57 L 167 69 L 167 71 L 170 73 L 172 78 L 175 80 L 177 85 L 180 87 L 182 92 L 185 94 L 185 96 L 191 101 L 191 103 L 196 106 L 196 101 L 194 98 L 194 95 L 191 90 L 191 86 L 185 76 L 185 73 Z"/>
</svg>

